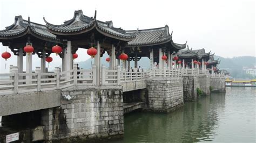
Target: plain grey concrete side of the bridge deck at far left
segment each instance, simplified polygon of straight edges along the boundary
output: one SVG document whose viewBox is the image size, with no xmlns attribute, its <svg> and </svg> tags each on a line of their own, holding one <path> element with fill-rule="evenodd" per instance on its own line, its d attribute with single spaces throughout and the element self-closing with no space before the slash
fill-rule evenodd
<svg viewBox="0 0 256 143">
<path fill-rule="evenodd" d="M 48 109 L 60 105 L 60 91 L 29 92 L 1 96 L 0 116 Z"/>
</svg>

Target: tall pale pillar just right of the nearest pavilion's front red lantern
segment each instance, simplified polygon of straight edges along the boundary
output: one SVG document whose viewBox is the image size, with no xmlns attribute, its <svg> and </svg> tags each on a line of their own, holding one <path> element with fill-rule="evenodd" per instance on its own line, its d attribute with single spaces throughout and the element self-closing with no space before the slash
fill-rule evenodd
<svg viewBox="0 0 256 143">
<path fill-rule="evenodd" d="M 97 54 L 95 55 L 96 85 L 100 85 L 100 44 L 97 41 Z"/>
</svg>

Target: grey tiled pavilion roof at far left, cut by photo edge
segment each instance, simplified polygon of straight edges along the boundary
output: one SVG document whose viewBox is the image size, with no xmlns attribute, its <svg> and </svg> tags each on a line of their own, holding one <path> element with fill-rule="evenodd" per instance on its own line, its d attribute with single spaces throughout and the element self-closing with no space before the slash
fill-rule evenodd
<svg viewBox="0 0 256 143">
<path fill-rule="evenodd" d="M 0 39 L 11 38 L 20 34 L 36 34 L 39 37 L 56 39 L 56 35 L 50 33 L 44 25 L 32 23 L 27 20 L 23 20 L 22 16 L 15 17 L 15 23 L 11 26 L 6 27 L 5 30 L 0 31 Z"/>
</svg>

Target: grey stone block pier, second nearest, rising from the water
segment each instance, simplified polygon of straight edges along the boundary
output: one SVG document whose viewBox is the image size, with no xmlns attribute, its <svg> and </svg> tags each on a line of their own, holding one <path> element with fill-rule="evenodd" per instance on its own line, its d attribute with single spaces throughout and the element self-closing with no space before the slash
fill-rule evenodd
<svg viewBox="0 0 256 143">
<path fill-rule="evenodd" d="M 156 112 L 168 112 L 183 102 L 182 78 L 161 78 L 147 81 L 147 109 Z"/>
</svg>

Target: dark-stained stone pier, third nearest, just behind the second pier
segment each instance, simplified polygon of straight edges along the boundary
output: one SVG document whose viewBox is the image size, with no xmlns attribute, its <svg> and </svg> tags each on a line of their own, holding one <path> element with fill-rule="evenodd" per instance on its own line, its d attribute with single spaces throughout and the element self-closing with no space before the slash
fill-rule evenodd
<svg viewBox="0 0 256 143">
<path fill-rule="evenodd" d="M 183 76 L 183 92 L 184 92 L 184 102 L 196 101 L 197 88 L 200 88 L 198 81 L 198 76 Z"/>
</svg>

